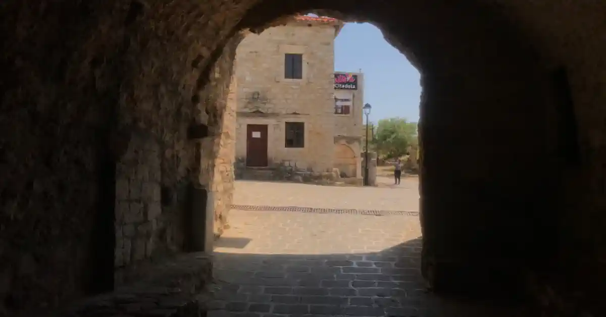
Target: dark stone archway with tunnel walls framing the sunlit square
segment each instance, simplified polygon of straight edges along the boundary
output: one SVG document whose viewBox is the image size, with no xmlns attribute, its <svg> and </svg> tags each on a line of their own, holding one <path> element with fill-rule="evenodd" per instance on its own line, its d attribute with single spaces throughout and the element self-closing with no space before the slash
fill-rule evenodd
<svg viewBox="0 0 606 317">
<path fill-rule="evenodd" d="M 208 224 L 196 206 L 216 233 L 229 209 L 216 158 L 238 34 L 310 10 L 375 23 L 421 72 L 425 278 L 596 304 L 584 300 L 606 273 L 603 4 L 7 1 L 4 309 L 59 307 L 111 290 L 99 281 L 115 271 L 204 249 L 213 230 L 190 230 Z"/>
</svg>

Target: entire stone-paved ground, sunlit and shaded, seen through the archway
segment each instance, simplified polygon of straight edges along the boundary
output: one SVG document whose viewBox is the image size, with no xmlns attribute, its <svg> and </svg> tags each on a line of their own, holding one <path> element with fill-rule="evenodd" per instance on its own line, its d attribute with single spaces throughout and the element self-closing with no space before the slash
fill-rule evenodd
<svg viewBox="0 0 606 317">
<path fill-rule="evenodd" d="M 236 205 L 417 210 L 400 187 L 238 182 Z M 523 316 L 506 304 L 438 298 L 420 273 L 418 216 L 232 210 L 216 243 L 209 316 Z"/>
</svg>

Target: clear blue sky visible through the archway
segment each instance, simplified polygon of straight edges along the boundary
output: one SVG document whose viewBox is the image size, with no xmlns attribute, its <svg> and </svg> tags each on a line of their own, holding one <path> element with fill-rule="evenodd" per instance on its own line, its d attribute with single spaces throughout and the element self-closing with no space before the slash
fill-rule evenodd
<svg viewBox="0 0 606 317">
<path fill-rule="evenodd" d="M 381 31 L 369 23 L 348 23 L 335 40 L 335 70 L 364 73 L 364 102 L 370 121 L 399 116 L 419 120 L 419 72 Z"/>
</svg>

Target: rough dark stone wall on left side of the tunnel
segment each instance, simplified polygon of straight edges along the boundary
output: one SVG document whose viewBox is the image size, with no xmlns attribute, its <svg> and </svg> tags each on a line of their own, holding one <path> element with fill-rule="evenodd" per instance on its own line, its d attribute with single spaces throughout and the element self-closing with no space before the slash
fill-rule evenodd
<svg viewBox="0 0 606 317">
<path fill-rule="evenodd" d="M 184 248 L 186 188 L 201 170 L 187 127 L 218 110 L 193 96 L 237 31 L 205 5 L 2 2 L 1 309 L 104 292 L 115 265 Z"/>
</svg>

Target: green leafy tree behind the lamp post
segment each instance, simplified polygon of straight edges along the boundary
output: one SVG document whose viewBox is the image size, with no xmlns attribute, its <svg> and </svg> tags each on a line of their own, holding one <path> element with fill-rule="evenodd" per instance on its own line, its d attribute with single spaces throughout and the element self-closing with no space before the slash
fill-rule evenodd
<svg viewBox="0 0 606 317">
<path fill-rule="evenodd" d="M 382 158 L 399 158 L 408 152 L 408 147 L 416 146 L 417 124 L 399 117 L 381 119 L 372 141 Z"/>
</svg>

